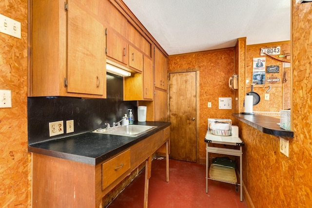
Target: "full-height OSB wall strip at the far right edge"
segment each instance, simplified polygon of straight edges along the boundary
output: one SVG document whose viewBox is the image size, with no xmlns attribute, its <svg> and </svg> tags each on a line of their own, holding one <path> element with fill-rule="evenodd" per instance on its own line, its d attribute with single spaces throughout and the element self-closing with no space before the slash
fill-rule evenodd
<svg viewBox="0 0 312 208">
<path fill-rule="evenodd" d="M 312 207 L 312 2 L 292 0 L 292 130 L 290 161 L 293 203 Z M 294 204 L 293 204 L 294 205 Z"/>
</svg>

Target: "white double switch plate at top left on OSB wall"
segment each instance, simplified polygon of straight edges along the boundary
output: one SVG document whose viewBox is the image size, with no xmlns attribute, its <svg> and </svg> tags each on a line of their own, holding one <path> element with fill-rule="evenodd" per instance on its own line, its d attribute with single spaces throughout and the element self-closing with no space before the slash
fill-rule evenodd
<svg viewBox="0 0 312 208">
<path fill-rule="evenodd" d="M 20 38 L 20 22 L 0 14 L 0 32 Z"/>
</svg>

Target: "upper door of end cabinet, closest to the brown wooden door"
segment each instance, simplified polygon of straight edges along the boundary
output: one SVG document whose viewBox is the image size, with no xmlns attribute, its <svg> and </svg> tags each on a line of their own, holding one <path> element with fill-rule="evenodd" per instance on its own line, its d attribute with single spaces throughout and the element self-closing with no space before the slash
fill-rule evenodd
<svg viewBox="0 0 312 208">
<path fill-rule="evenodd" d="M 167 57 L 154 47 L 155 87 L 167 90 Z"/>
</svg>

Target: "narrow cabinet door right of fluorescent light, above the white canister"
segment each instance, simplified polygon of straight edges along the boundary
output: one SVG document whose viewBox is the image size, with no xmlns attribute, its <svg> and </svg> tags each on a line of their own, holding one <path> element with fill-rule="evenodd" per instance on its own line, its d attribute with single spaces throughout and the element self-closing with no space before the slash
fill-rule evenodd
<svg viewBox="0 0 312 208">
<path fill-rule="evenodd" d="M 153 60 L 147 57 L 144 57 L 144 89 L 143 89 L 143 97 L 145 99 L 153 99 L 154 95 L 154 77 L 153 77 Z"/>
</svg>

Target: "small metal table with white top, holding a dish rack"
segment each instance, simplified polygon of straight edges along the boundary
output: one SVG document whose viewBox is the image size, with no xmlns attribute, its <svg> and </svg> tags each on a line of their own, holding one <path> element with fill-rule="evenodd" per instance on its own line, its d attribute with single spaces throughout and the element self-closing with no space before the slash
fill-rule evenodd
<svg viewBox="0 0 312 208">
<path fill-rule="evenodd" d="M 217 153 L 217 154 L 227 154 L 227 155 L 233 155 L 233 156 L 239 156 L 239 178 L 240 183 L 231 183 L 227 181 L 221 181 L 225 183 L 231 183 L 237 186 L 240 186 L 240 201 L 243 201 L 243 184 L 242 184 L 242 146 L 245 145 L 245 143 L 239 138 L 239 137 L 233 137 L 233 136 L 219 136 L 212 134 L 207 130 L 206 136 L 205 136 L 205 142 L 206 142 L 206 193 L 208 193 L 208 179 L 210 180 L 216 180 L 221 181 L 213 178 L 208 177 L 208 168 L 209 168 L 209 152 L 211 153 Z M 218 147 L 209 147 L 210 143 L 214 144 L 223 144 L 223 145 L 232 145 L 232 146 L 239 146 L 239 150 L 233 150 L 228 148 L 218 148 Z"/>
</svg>

